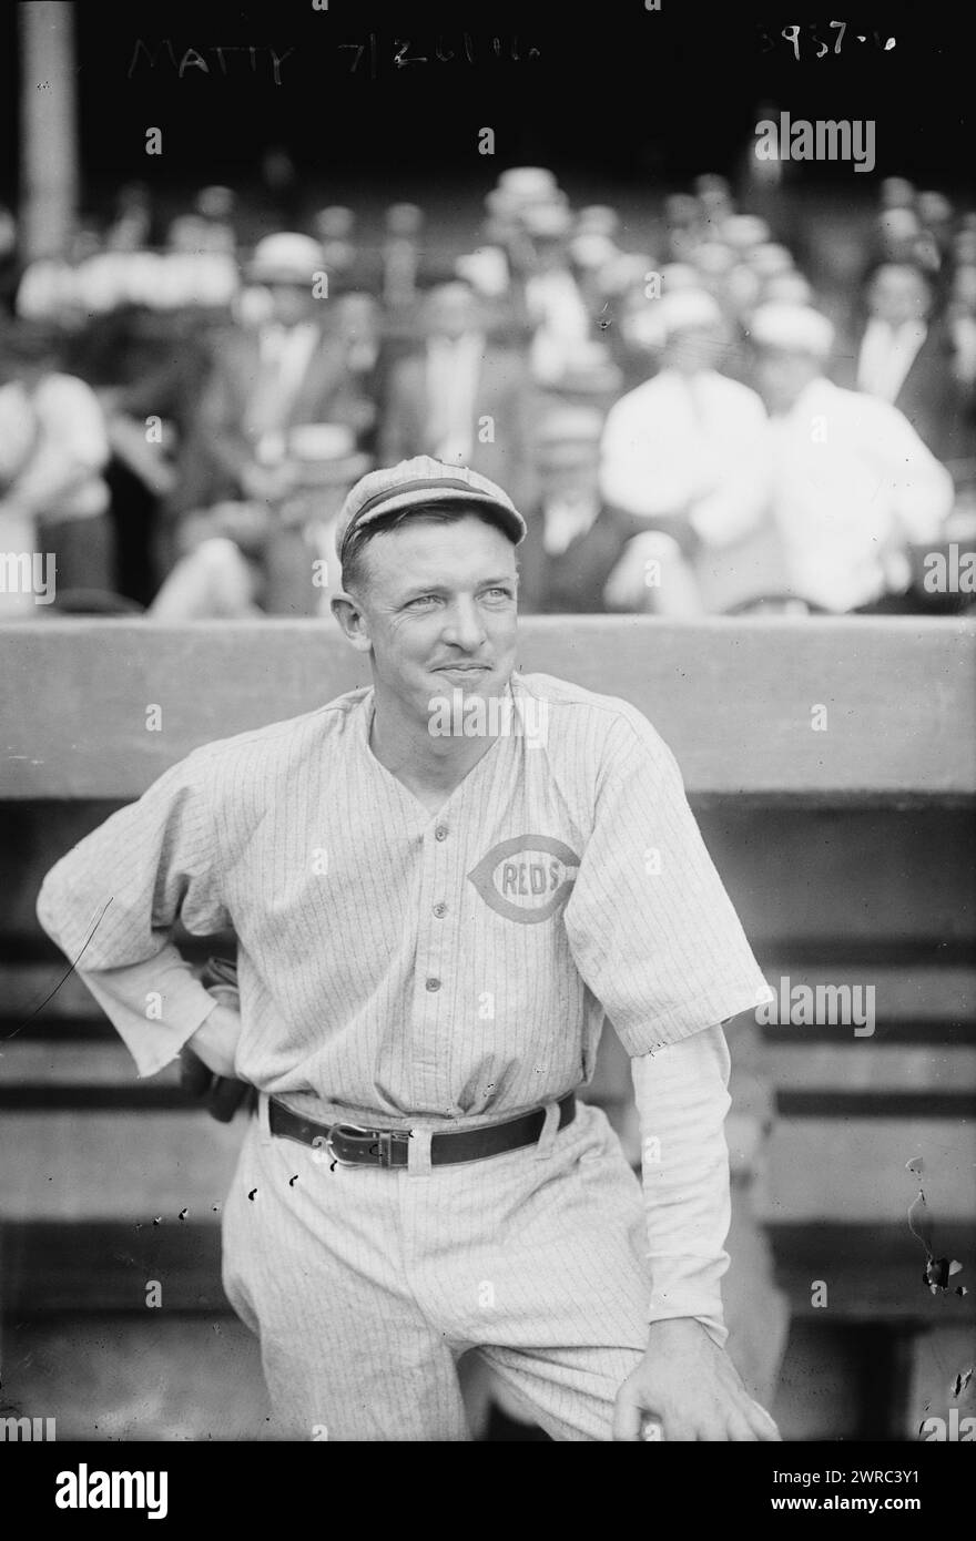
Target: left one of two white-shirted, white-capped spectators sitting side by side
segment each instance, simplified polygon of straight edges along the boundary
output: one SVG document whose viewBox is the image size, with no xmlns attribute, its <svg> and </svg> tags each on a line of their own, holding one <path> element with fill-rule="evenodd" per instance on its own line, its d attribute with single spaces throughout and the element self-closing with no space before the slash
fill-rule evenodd
<svg viewBox="0 0 976 1541">
<path fill-rule="evenodd" d="M 655 596 L 641 575 L 665 533 L 691 564 L 682 575 L 688 603 L 697 584 L 698 607 L 717 610 L 766 587 L 756 546 L 769 501 L 766 413 L 756 391 L 717 371 L 728 337 L 711 294 L 678 290 L 655 302 L 655 314 L 661 368 L 617 402 L 603 435 L 604 502 L 646 522 L 629 542 L 611 603 L 637 609 Z M 665 607 L 666 590 L 661 582 L 655 596 Z"/>
</svg>

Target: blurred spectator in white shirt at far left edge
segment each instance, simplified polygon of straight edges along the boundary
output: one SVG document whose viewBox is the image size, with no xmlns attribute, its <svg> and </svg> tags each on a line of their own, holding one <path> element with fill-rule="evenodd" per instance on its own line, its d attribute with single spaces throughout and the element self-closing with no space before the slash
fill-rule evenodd
<svg viewBox="0 0 976 1541">
<path fill-rule="evenodd" d="M 8 550 L 52 553 L 59 596 L 114 589 L 105 418 L 60 364 L 59 337 L 19 322 L 0 351 L 0 519 Z"/>
</svg>

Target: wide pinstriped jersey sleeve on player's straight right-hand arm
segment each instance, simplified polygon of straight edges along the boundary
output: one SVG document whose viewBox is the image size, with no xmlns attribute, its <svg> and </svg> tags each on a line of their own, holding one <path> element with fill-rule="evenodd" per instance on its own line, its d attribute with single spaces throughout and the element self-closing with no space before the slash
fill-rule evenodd
<svg viewBox="0 0 976 1541">
<path fill-rule="evenodd" d="M 606 734 L 564 922 L 575 965 L 631 1056 L 768 999 L 677 761 L 626 703 Z"/>
</svg>

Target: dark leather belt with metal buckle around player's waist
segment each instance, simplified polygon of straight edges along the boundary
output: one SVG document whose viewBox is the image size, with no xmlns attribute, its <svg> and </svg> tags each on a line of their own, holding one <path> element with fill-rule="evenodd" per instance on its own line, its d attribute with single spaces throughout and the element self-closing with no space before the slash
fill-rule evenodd
<svg viewBox="0 0 976 1541">
<path fill-rule="evenodd" d="M 560 1097 L 560 1123 L 564 1130 L 577 1116 L 572 1091 Z M 463 1160 L 501 1156 L 521 1145 L 535 1145 L 546 1123 L 546 1110 L 535 1108 L 504 1123 L 486 1123 L 476 1130 L 446 1130 L 430 1139 L 430 1165 L 447 1167 Z M 332 1165 L 339 1167 L 407 1167 L 410 1130 L 367 1130 L 358 1123 L 316 1123 L 304 1119 L 274 1097 L 268 1102 L 268 1125 L 279 1139 L 298 1140 L 325 1150 Z"/>
</svg>

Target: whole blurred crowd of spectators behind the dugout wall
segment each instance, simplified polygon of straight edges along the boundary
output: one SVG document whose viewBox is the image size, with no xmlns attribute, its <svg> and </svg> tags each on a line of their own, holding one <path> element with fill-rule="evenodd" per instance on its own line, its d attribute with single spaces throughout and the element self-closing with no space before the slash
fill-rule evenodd
<svg viewBox="0 0 976 1541">
<path fill-rule="evenodd" d="M 0 552 L 56 613 L 327 613 L 345 492 L 432 455 L 524 512 L 523 612 L 971 606 L 924 572 L 974 544 L 976 214 L 882 182 L 846 304 L 720 176 L 658 214 L 629 250 L 523 166 L 464 251 L 410 203 L 245 245 L 228 188 L 153 245 L 133 186 L 19 267 L 0 210 Z"/>
</svg>

